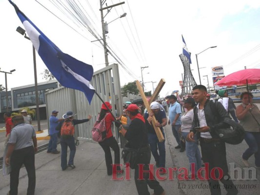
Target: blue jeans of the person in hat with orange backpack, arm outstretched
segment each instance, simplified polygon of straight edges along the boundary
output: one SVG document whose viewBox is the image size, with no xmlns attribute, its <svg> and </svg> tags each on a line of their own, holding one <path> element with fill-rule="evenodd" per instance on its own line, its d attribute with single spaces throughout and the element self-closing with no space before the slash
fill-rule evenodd
<svg viewBox="0 0 260 195">
<path fill-rule="evenodd" d="M 70 156 L 68 164 L 74 164 L 74 156 L 76 154 L 76 145 L 74 137 L 62 138 L 60 137 L 60 146 L 61 146 L 61 168 L 65 169 L 67 167 L 67 151 L 68 147 L 70 149 Z"/>
</svg>

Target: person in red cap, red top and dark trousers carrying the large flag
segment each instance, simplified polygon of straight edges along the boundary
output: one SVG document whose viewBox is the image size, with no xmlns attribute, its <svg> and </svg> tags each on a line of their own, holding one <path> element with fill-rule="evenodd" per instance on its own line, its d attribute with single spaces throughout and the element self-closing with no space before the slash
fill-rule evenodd
<svg viewBox="0 0 260 195">
<path fill-rule="evenodd" d="M 112 133 L 112 122 L 115 121 L 113 115 L 109 112 L 112 109 L 111 104 L 106 101 L 105 104 L 103 103 L 101 106 L 101 111 L 98 120 L 101 121 L 105 118 L 105 126 L 106 126 L 106 138 L 104 141 L 100 141 L 99 144 L 105 152 L 105 161 L 106 161 L 106 168 L 107 168 L 107 175 L 112 175 L 112 156 L 110 148 L 113 149 L 115 154 L 114 164 L 120 164 L 120 149 L 117 140 L 113 137 Z M 120 167 L 117 166 L 117 169 L 120 170 Z M 123 170 L 122 170 L 123 171 Z M 119 173 L 119 172 L 117 172 Z"/>
</svg>

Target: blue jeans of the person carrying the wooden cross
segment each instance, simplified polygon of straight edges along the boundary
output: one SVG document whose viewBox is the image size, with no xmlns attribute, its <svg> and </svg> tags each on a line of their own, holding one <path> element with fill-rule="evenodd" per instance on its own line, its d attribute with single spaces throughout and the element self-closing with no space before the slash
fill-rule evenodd
<svg viewBox="0 0 260 195">
<path fill-rule="evenodd" d="M 164 132 L 161 133 L 162 136 L 165 137 Z M 160 142 L 156 134 L 148 133 L 148 142 L 155 161 L 159 163 L 159 167 L 165 167 L 165 140 Z"/>
</svg>

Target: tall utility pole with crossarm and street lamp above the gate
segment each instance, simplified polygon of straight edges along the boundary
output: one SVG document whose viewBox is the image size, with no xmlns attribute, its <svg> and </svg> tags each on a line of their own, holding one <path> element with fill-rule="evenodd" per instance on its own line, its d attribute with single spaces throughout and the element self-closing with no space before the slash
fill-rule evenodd
<svg viewBox="0 0 260 195">
<path fill-rule="evenodd" d="M 114 5 L 110 5 L 110 6 L 107 6 L 107 7 L 102 7 L 102 0 L 100 0 L 100 13 L 101 13 L 101 24 L 102 24 L 102 35 L 103 35 L 103 46 L 104 46 L 104 54 L 105 54 L 105 64 L 106 66 L 108 66 L 108 53 L 107 53 L 107 47 L 106 47 L 106 31 L 105 31 L 105 23 L 104 23 L 104 18 L 105 16 L 103 15 L 103 10 L 104 9 L 109 9 L 109 8 L 113 8 L 117 5 L 121 5 L 121 4 L 124 4 L 124 2 L 120 2 L 120 3 L 117 3 L 117 4 L 114 4 Z M 108 10 L 109 12 L 110 10 Z M 126 13 L 124 13 L 122 16 L 120 16 L 119 18 L 123 18 L 126 16 Z M 117 18 L 117 19 L 119 19 Z M 115 19 L 115 20 L 117 20 Z M 114 21 L 114 20 L 113 20 Z M 112 22 L 112 21 L 111 21 Z M 109 23 L 111 23 L 109 22 Z M 106 24 L 107 25 L 107 24 Z M 107 32 L 108 33 L 108 32 Z"/>
</svg>

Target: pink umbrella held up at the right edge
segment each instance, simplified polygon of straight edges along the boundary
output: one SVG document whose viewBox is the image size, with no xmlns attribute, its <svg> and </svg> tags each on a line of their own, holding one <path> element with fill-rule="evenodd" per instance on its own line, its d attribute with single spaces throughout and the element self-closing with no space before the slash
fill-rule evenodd
<svg viewBox="0 0 260 195">
<path fill-rule="evenodd" d="M 260 69 L 244 69 L 219 80 L 216 85 L 231 86 L 231 85 L 248 85 L 260 83 Z"/>
</svg>

